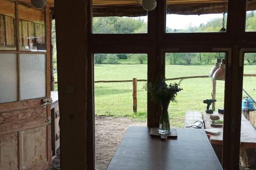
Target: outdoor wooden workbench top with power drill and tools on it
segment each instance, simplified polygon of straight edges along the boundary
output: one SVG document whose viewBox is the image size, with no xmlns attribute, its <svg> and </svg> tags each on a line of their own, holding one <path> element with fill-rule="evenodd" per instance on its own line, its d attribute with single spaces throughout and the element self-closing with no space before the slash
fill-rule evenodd
<svg viewBox="0 0 256 170">
<path fill-rule="evenodd" d="M 223 114 L 219 114 L 218 112 L 214 112 L 213 114 L 204 113 L 206 129 L 214 128 L 210 126 L 210 115 L 218 115 L 223 120 Z M 191 126 L 199 119 L 202 119 L 202 113 L 200 111 L 187 111 L 185 115 L 185 126 Z M 221 133 L 219 135 L 211 135 L 210 137 L 212 144 L 223 143 L 223 127 L 218 129 L 221 130 Z M 241 120 L 241 145 L 244 148 L 256 149 L 256 131 L 243 114 Z"/>
</svg>

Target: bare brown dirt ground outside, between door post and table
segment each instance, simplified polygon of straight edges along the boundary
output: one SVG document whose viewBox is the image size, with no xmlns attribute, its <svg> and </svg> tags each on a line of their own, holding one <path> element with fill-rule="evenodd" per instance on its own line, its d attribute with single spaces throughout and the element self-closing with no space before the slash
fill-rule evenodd
<svg viewBox="0 0 256 170">
<path fill-rule="evenodd" d="M 96 169 L 104 170 L 108 167 L 114 156 L 122 137 L 129 126 L 146 126 L 146 123 L 136 122 L 126 117 L 95 118 L 95 148 L 96 148 Z M 59 170 L 59 152 L 52 160 L 53 167 L 46 170 Z"/>
</svg>

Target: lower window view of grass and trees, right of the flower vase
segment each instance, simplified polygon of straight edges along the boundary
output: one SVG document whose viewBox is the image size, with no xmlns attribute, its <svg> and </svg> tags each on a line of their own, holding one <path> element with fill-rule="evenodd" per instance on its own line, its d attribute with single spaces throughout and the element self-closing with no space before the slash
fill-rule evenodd
<svg viewBox="0 0 256 170">
<path fill-rule="evenodd" d="M 215 98 L 211 95 L 212 80 L 209 73 L 217 58 L 225 59 L 225 53 L 165 54 L 165 78 L 169 79 L 167 84 L 184 79 L 181 84 L 184 90 L 178 93 L 178 102 L 169 107 L 171 126 L 184 127 L 187 111 L 205 112 L 207 105 L 203 101 L 206 99 L 217 100 L 214 103 L 216 109 L 212 110 L 218 112 L 218 108 L 224 108 L 224 81 L 217 82 Z"/>
</svg>

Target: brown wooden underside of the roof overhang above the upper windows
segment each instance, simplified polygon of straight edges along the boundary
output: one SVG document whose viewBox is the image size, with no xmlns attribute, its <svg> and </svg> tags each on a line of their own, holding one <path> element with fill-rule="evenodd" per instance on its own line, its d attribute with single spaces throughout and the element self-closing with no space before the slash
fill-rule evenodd
<svg viewBox="0 0 256 170">
<path fill-rule="evenodd" d="M 54 7 L 54 0 L 47 1 L 50 3 L 50 7 Z M 226 4 L 225 11 L 227 11 L 228 0 L 167 0 L 167 5 L 169 5 L 167 14 L 201 15 L 222 13 L 224 11 L 223 1 Z M 247 9 L 249 11 L 256 10 L 256 1 L 247 1 Z M 147 12 L 142 8 L 141 2 L 142 0 L 93 0 L 93 16 L 145 16 Z"/>
</svg>

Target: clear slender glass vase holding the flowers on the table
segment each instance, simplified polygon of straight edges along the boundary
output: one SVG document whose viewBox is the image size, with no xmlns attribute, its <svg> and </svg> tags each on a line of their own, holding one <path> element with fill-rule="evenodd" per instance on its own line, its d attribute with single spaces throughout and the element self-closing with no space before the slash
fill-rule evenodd
<svg viewBox="0 0 256 170">
<path fill-rule="evenodd" d="M 170 119 L 169 119 L 169 114 L 168 114 L 169 104 L 170 104 L 169 100 L 161 101 L 162 113 L 160 116 L 159 131 L 158 131 L 158 133 L 160 133 L 160 134 L 170 133 Z"/>
</svg>

